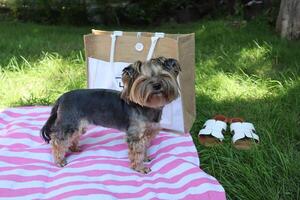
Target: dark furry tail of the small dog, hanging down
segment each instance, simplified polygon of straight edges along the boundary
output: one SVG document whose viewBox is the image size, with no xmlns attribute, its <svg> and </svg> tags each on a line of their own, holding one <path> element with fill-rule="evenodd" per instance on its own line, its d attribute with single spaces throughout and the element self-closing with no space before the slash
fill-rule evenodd
<svg viewBox="0 0 300 200">
<path fill-rule="evenodd" d="M 59 101 L 57 100 L 54 106 L 52 107 L 50 117 L 46 121 L 45 125 L 41 129 L 41 137 L 45 140 L 45 142 L 49 143 L 51 140 L 50 134 L 53 132 L 53 124 L 57 118 L 57 109 L 58 109 Z"/>
</svg>

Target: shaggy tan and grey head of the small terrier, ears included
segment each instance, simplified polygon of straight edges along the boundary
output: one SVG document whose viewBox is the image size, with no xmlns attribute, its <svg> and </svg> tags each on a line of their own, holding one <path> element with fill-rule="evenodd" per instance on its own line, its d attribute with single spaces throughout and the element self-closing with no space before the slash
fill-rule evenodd
<svg viewBox="0 0 300 200">
<path fill-rule="evenodd" d="M 136 61 L 123 69 L 121 97 L 141 106 L 160 108 L 179 96 L 180 71 L 178 61 L 172 58 Z"/>
</svg>

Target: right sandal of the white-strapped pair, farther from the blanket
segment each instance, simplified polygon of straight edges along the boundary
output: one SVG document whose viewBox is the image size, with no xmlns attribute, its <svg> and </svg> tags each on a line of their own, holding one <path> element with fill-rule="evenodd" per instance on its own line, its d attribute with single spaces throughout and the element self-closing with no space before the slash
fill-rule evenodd
<svg viewBox="0 0 300 200">
<path fill-rule="evenodd" d="M 244 122 L 242 119 L 231 119 L 230 132 L 232 143 L 237 149 L 247 150 L 259 143 L 259 136 L 256 134 L 253 124 Z"/>
</svg>

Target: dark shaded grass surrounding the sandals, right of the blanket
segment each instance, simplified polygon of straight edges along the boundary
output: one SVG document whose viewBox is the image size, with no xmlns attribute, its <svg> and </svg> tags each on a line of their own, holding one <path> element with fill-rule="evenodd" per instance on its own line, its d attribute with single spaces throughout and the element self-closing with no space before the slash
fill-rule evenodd
<svg viewBox="0 0 300 200">
<path fill-rule="evenodd" d="M 220 181 L 228 199 L 299 197 L 299 96 L 300 82 L 274 98 L 216 102 L 205 94 L 197 95 L 197 119 L 191 132 L 201 167 Z M 260 144 L 250 151 L 236 150 L 227 131 L 224 144 L 213 148 L 199 145 L 198 131 L 215 114 L 243 117 L 253 123 Z"/>
</svg>

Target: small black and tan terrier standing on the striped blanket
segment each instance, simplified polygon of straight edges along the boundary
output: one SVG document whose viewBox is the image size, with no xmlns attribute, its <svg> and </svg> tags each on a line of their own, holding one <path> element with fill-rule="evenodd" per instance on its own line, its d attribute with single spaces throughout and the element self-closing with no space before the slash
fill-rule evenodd
<svg viewBox="0 0 300 200">
<path fill-rule="evenodd" d="M 68 150 L 80 151 L 79 138 L 88 124 L 126 132 L 131 168 L 148 173 L 144 166 L 147 147 L 159 130 L 163 107 L 179 96 L 177 76 L 181 71 L 175 59 L 159 57 L 137 61 L 124 68 L 121 92 L 108 89 L 79 89 L 60 96 L 41 129 L 51 144 L 55 163 L 67 164 Z"/>
</svg>

